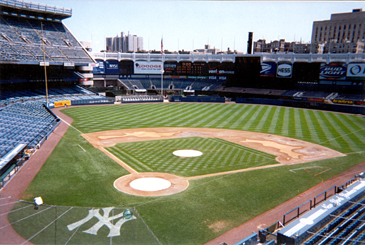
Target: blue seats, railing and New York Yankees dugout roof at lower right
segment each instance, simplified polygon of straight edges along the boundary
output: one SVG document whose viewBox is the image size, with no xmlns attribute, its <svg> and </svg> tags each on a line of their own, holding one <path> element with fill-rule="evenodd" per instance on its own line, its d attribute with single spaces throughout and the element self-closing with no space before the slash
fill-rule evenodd
<svg viewBox="0 0 365 245">
<path fill-rule="evenodd" d="M 235 245 L 360 245 L 365 243 L 364 173 L 355 175 L 335 194 L 311 207 L 291 223 L 277 222 Z M 347 188 L 344 188 L 344 187 Z M 332 189 L 332 188 L 331 188 Z M 299 206 L 300 207 L 300 206 Z M 296 209 L 293 209 L 296 210 Z M 267 239 L 270 235 L 270 239 Z"/>
</svg>

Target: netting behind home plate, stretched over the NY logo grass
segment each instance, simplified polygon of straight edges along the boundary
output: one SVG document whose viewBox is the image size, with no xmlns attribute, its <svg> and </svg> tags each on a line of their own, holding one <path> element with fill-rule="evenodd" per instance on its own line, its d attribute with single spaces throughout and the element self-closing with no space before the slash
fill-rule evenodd
<svg viewBox="0 0 365 245">
<path fill-rule="evenodd" d="M 23 244 L 160 244 L 134 208 L 37 207 L 17 202 L 0 229 L 12 226 Z"/>
</svg>

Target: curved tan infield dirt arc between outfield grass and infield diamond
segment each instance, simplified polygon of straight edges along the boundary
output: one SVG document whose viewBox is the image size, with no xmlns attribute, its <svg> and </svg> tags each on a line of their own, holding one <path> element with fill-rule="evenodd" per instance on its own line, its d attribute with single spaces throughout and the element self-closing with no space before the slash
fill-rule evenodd
<svg viewBox="0 0 365 245">
<path fill-rule="evenodd" d="M 268 133 L 225 129 L 142 128 L 93 132 L 82 134 L 82 136 L 99 149 L 122 142 L 193 136 L 216 137 L 276 155 L 276 161 L 287 165 L 345 156 L 341 152 L 302 140 Z"/>
</svg>

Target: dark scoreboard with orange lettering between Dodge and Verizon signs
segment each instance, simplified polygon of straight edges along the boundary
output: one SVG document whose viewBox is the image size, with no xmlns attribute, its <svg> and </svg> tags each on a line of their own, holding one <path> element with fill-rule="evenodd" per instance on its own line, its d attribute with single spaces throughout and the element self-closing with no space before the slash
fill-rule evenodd
<svg viewBox="0 0 365 245">
<path fill-rule="evenodd" d="M 206 75 L 206 62 L 164 62 L 164 75 Z"/>
</svg>

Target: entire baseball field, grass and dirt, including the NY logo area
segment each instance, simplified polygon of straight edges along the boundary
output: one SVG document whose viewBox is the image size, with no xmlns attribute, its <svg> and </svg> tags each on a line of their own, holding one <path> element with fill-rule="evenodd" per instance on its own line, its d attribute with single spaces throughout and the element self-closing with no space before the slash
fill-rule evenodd
<svg viewBox="0 0 365 245">
<path fill-rule="evenodd" d="M 35 244 L 204 244 L 365 161 L 359 115 L 204 103 L 62 113 L 72 127 L 21 198 L 50 206 L 8 215 Z M 170 186 L 132 187 L 143 178 Z"/>
</svg>

